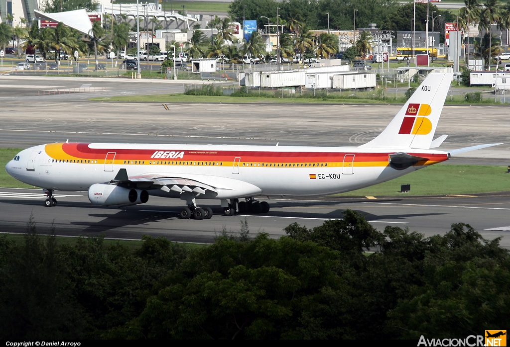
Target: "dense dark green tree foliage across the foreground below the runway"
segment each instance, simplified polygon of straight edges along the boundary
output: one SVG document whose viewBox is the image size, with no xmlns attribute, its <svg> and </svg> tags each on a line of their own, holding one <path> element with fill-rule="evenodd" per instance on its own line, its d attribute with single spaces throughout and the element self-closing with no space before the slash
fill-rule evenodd
<svg viewBox="0 0 510 347">
<path fill-rule="evenodd" d="M 0 338 L 417 339 L 510 324 L 509 252 L 467 224 L 425 238 L 347 210 L 278 240 L 241 229 L 191 252 L 145 236 L 130 252 L 42 241 L 31 221 L 23 244 L 0 237 Z"/>
</svg>

